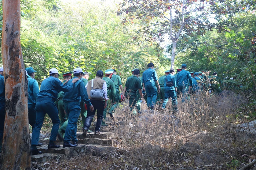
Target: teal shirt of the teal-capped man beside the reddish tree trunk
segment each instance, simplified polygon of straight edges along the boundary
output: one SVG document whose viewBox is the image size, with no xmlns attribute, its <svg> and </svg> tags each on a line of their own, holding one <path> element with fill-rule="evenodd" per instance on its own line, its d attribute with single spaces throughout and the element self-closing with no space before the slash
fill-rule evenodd
<svg viewBox="0 0 256 170">
<path fill-rule="evenodd" d="M 36 97 L 39 92 L 38 82 L 35 79 L 32 79 L 29 75 L 28 77 L 28 106 L 36 105 Z"/>
</svg>

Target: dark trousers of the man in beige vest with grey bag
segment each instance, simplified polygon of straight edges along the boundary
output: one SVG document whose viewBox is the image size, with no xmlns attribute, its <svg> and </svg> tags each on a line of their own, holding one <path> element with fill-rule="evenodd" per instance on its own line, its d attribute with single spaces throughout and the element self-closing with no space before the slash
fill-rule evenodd
<svg viewBox="0 0 256 170">
<path fill-rule="evenodd" d="M 90 99 L 92 106 L 94 107 L 94 111 L 91 112 L 91 110 L 88 107 L 87 110 L 87 117 L 85 118 L 84 122 L 84 129 L 89 130 L 89 127 L 91 126 L 92 119 L 94 118 L 95 111 L 97 110 L 97 123 L 96 123 L 96 128 L 95 132 L 100 131 L 100 126 L 103 120 L 103 110 L 104 110 L 104 101 L 99 101 L 99 100 L 94 100 Z"/>
</svg>

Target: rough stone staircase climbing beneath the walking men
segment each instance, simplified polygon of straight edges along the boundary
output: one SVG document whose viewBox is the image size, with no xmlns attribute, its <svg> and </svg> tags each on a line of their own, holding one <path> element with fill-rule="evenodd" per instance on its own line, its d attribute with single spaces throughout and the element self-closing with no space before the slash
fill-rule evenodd
<svg viewBox="0 0 256 170">
<path fill-rule="evenodd" d="M 112 133 L 117 126 L 124 125 L 124 122 L 108 122 L 108 126 L 102 126 L 99 135 L 94 135 L 95 126 L 89 129 L 93 131 L 88 133 L 86 137 L 83 137 L 81 132 L 77 133 L 78 146 L 63 148 L 63 141 L 59 141 L 58 138 L 55 144 L 61 145 L 60 148 L 48 149 L 49 140 L 40 140 L 43 143 L 42 146 L 37 147 L 39 151 L 43 153 L 41 155 L 32 155 L 32 161 L 38 163 L 45 163 L 47 161 L 59 161 L 65 158 L 71 158 L 75 156 L 81 156 L 85 154 L 91 154 L 93 156 L 99 156 L 101 158 L 109 155 L 111 152 L 118 152 L 117 148 L 113 147 L 113 140 L 109 139 L 108 135 Z"/>
</svg>

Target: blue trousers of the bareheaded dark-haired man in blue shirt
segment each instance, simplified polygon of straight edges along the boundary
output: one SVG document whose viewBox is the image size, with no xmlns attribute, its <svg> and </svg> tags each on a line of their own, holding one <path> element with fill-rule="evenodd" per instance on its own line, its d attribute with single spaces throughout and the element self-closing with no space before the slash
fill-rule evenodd
<svg viewBox="0 0 256 170">
<path fill-rule="evenodd" d="M 157 100 L 157 87 L 155 84 L 145 84 L 147 93 L 147 106 L 151 107 L 156 104 Z"/>
</svg>

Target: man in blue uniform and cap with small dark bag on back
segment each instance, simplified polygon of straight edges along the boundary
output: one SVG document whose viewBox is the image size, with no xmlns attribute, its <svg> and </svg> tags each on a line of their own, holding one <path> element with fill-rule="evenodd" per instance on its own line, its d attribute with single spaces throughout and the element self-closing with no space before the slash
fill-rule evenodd
<svg viewBox="0 0 256 170">
<path fill-rule="evenodd" d="M 172 75 L 175 71 L 173 69 L 170 69 L 169 74 L 165 77 L 164 79 L 164 90 L 165 90 L 165 95 L 164 95 L 164 103 L 162 104 L 162 110 L 165 109 L 165 106 L 167 102 L 169 101 L 169 98 L 172 98 L 172 105 L 175 110 L 177 110 L 177 86 L 176 86 L 176 79 L 175 76 Z M 171 83 L 171 84 L 168 84 Z"/>
</svg>

